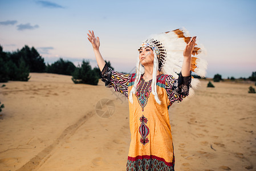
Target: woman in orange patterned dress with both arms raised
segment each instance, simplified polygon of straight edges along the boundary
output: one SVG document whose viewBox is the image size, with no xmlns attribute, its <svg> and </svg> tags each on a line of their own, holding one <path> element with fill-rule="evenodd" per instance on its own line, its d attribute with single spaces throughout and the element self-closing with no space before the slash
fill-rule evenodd
<svg viewBox="0 0 256 171">
<path fill-rule="evenodd" d="M 164 67 L 169 60 L 168 53 L 173 53 L 174 56 L 178 53 L 168 50 L 167 43 L 162 44 L 159 41 L 166 42 L 161 36 L 167 34 L 171 36 L 173 32 L 153 36 L 141 44 L 136 74 L 121 74 L 108 68 L 99 51 L 99 37 L 95 38 L 94 31 L 87 34 L 101 71 L 101 80 L 105 82 L 105 86 L 113 87 L 129 99 L 131 144 L 127 170 L 174 170 L 168 109 L 174 101 L 179 102 L 188 96 L 190 67 L 191 63 L 195 64 L 192 54 L 197 54 L 200 48 L 195 47 L 196 36 L 188 41 L 188 37 L 182 35 L 182 42 L 187 41 L 187 44 L 185 43 L 185 49 L 182 50 L 184 59 L 181 72 L 177 79 L 172 75 L 163 74 L 162 71 L 168 70 Z M 178 44 L 176 40 L 173 39 L 173 44 Z M 194 71 L 194 68 L 192 69 Z"/>
</svg>

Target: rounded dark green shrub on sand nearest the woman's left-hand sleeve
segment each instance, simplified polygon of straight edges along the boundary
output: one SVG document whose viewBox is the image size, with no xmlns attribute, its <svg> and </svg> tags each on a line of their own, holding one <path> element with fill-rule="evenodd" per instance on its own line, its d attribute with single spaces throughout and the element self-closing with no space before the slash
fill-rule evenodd
<svg viewBox="0 0 256 171">
<path fill-rule="evenodd" d="M 81 67 L 76 67 L 72 75 L 72 81 L 75 84 L 83 83 L 97 85 L 99 76 L 97 76 L 95 70 L 92 70 L 90 63 L 83 60 Z"/>
</svg>

